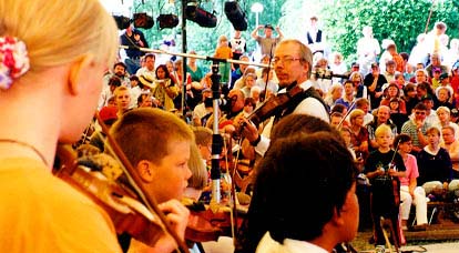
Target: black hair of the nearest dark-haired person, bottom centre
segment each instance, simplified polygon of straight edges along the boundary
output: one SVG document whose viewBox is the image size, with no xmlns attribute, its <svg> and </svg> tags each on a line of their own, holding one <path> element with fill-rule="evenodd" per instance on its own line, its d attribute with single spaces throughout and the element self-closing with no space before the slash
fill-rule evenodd
<svg viewBox="0 0 459 253">
<path fill-rule="evenodd" d="M 259 162 L 251 208 L 277 242 L 316 239 L 334 212 L 340 212 L 357 169 L 338 136 L 316 132 L 279 139 Z M 308 195 L 314 208 L 286 210 L 282 204 L 295 203 L 305 192 L 320 192 Z"/>
</svg>

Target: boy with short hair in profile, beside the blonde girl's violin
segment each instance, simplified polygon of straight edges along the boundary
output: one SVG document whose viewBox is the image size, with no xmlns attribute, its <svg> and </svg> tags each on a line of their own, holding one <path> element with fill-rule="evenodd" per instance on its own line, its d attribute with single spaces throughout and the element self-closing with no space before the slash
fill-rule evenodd
<svg viewBox="0 0 459 253">
<path fill-rule="evenodd" d="M 155 108 L 133 109 L 124 113 L 110 129 L 113 139 L 124 151 L 129 162 L 142 181 L 147 199 L 155 199 L 166 213 L 172 229 L 183 240 L 190 211 L 180 203 L 192 172 L 188 168 L 191 145 L 194 143 L 190 126 L 170 112 Z M 175 241 L 162 236 L 150 252 L 171 252 Z M 146 245 L 132 241 L 131 249 Z M 161 247 L 161 249 L 160 249 Z"/>
</svg>

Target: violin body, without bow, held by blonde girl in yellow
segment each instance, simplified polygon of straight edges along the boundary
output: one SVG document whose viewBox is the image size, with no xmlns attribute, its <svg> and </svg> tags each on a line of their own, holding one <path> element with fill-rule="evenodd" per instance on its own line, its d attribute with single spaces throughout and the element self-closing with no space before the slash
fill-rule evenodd
<svg viewBox="0 0 459 253">
<path fill-rule="evenodd" d="M 101 171 L 94 171 L 76 162 L 76 153 L 69 145 L 58 145 L 61 166 L 55 175 L 76 188 L 110 215 L 116 233 L 129 233 L 146 244 L 154 243 L 164 233 L 157 215 L 151 213 L 128 186 L 109 180 Z"/>
</svg>

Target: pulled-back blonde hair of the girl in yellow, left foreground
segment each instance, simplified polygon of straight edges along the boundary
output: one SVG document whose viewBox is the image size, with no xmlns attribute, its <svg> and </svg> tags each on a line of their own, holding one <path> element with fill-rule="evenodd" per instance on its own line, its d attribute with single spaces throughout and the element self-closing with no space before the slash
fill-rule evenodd
<svg viewBox="0 0 459 253">
<path fill-rule="evenodd" d="M 26 43 L 31 65 L 28 73 L 84 54 L 108 68 L 116 58 L 118 28 L 99 0 L 1 0 L 0 24 L 0 37 L 16 37 Z"/>
</svg>

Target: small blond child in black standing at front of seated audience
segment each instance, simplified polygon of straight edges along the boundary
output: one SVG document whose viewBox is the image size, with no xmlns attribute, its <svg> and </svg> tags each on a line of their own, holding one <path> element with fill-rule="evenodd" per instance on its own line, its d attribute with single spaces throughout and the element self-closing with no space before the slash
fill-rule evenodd
<svg viewBox="0 0 459 253">
<path fill-rule="evenodd" d="M 399 231 L 399 178 L 405 176 L 406 168 L 401 155 L 391 149 L 391 129 L 387 124 L 380 124 L 376 129 L 376 142 L 379 146 L 368 155 L 364 169 L 364 173 L 370 180 L 371 184 L 370 205 L 376 245 L 386 244 L 380 226 L 381 216 L 391 221 L 394 231 Z M 395 146 L 397 150 L 397 143 L 395 143 Z M 398 233 L 396 233 L 396 237 L 398 241 L 397 245 L 400 245 Z"/>
</svg>

